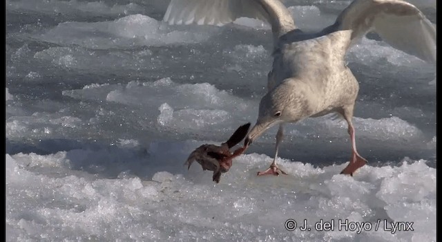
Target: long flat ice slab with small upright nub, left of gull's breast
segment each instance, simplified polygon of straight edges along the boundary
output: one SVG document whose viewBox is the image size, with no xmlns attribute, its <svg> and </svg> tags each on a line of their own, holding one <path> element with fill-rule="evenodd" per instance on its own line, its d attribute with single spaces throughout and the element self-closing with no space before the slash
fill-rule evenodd
<svg viewBox="0 0 442 242">
<path fill-rule="evenodd" d="M 170 78 L 155 82 L 132 81 L 128 82 L 126 86 L 120 84 L 85 86 L 81 90 L 64 91 L 63 93 L 79 99 L 106 100 L 142 106 L 144 109 L 158 109 L 160 106 L 159 121 L 164 124 L 169 120 L 168 117 L 171 117 L 171 111 L 181 118 L 184 118 L 185 115 L 202 117 L 205 112 L 206 116 L 204 117 L 209 118 L 209 115 L 213 114 L 222 120 L 228 118 L 227 113 L 230 111 L 236 112 L 236 115 L 253 115 L 254 111 L 250 101 L 238 98 L 229 91 L 219 90 L 213 84 L 176 84 Z M 164 104 L 165 102 L 167 104 Z M 201 113 L 199 110 L 205 111 L 201 111 Z M 238 111 L 247 111 L 247 113 L 239 113 Z M 215 119 L 212 118 L 212 120 Z M 220 121 L 222 122 L 222 120 Z"/>
</svg>

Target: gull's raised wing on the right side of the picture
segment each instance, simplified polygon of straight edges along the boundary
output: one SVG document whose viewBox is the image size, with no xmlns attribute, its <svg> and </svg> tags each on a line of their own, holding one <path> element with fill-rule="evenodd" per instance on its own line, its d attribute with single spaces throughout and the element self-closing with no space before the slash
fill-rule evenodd
<svg viewBox="0 0 442 242">
<path fill-rule="evenodd" d="M 355 0 L 323 32 L 336 30 L 353 30 L 352 39 L 374 31 L 390 46 L 426 62 L 436 62 L 436 29 L 406 1 Z"/>
</svg>

